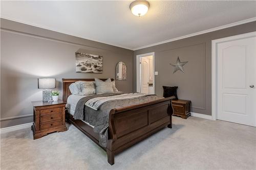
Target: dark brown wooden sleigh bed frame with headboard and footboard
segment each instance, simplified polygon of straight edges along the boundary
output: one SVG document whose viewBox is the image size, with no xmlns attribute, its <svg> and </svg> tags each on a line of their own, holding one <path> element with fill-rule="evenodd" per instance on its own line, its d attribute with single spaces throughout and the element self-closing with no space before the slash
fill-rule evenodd
<svg viewBox="0 0 256 170">
<path fill-rule="evenodd" d="M 105 81 L 106 79 L 100 79 Z M 113 81 L 113 79 L 111 79 Z M 94 81 L 94 79 L 62 79 L 63 101 L 71 95 L 69 86 L 76 81 Z M 112 109 L 109 116 L 108 142 L 106 148 L 99 145 L 99 134 L 82 120 L 74 119 L 66 112 L 66 119 L 82 133 L 98 144 L 108 155 L 108 162 L 114 164 L 114 155 L 131 145 L 161 130 L 165 126 L 172 128 L 172 99 L 174 96 L 139 105 Z"/>
</svg>

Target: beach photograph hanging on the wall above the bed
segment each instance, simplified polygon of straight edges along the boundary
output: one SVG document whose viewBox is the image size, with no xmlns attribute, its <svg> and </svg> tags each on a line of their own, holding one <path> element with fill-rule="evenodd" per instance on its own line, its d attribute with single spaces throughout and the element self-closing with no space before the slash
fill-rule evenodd
<svg viewBox="0 0 256 170">
<path fill-rule="evenodd" d="M 102 73 L 102 56 L 76 52 L 76 72 Z"/>
</svg>

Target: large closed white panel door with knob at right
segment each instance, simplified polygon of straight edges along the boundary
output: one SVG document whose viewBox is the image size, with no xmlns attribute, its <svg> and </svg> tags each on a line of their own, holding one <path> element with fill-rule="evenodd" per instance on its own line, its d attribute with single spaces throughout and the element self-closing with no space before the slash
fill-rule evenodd
<svg viewBox="0 0 256 170">
<path fill-rule="evenodd" d="M 256 126 L 256 34 L 216 45 L 217 119 Z"/>
</svg>

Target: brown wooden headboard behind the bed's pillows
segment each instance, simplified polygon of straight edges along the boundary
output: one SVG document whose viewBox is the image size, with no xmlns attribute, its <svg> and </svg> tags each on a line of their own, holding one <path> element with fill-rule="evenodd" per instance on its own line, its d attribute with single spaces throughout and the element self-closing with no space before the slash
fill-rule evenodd
<svg viewBox="0 0 256 170">
<path fill-rule="evenodd" d="M 107 79 L 99 79 L 102 81 L 105 81 Z M 71 92 L 69 90 L 69 86 L 77 81 L 88 81 L 88 82 L 92 82 L 95 81 L 94 79 L 62 79 L 62 100 L 63 102 L 67 102 L 68 96 L 71 95 Z M 114 79 L 111 79 L 111 81 L 114 81 Z"/>
</svg>

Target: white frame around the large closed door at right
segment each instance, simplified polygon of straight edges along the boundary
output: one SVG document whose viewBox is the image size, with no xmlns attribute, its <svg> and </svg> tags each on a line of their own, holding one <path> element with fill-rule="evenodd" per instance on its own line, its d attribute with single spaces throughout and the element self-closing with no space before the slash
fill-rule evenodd
<svg viewBox="0 0 256 170">
<path fill-rule="evenodd" d="M 218 43 L 225 42 L 225 41 L 230 41 L 230 40 L 236 40 L 236 39 L 244 39 L 244 38 L 250 38 L 250 37 L 255 37 L 256 36 L 256 31 L 255 32 L 250 32 L 250 33 L 245 33 L 245 34 L 239 34 L 239 35 L 234 35 L 230 37 L 225 37 L 225 38 L 220 38 L 220 39 L 215 39 L 211 40 L 211 116 L 212 119 L 216 120 L 218 118 L 218 106 L 217 106 L 217 45 Z"/>
</svg>

